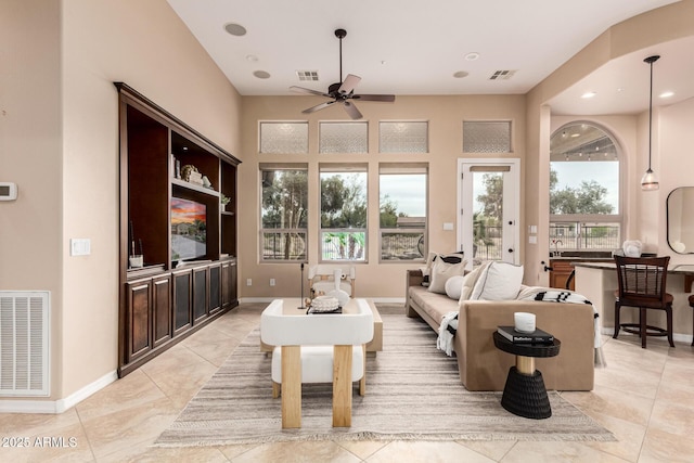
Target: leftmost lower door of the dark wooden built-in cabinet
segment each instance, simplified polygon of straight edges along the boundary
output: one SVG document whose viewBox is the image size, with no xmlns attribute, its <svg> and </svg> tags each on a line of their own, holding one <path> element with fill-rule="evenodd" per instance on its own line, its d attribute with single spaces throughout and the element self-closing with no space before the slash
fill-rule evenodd
<svg viewBox="0 0 694 463">
<path fill-rule="evenodd" d="M 150 334 L 152 280 L 127 283 L 126 291 L 128 294 L 126 359 L 130 362 L 152 349 Z"/>
</svg>

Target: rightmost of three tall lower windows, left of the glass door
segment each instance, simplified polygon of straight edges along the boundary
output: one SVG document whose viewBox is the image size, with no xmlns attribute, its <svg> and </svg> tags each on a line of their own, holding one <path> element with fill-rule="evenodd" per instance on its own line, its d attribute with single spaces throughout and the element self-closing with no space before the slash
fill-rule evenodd
<svg viewBox="0 0 694 463">
<path fill-rule="evenodd" d="M 427 166 L 378 167 L 381 261 L 423 261 L 426 252 Z"/>
</svg>

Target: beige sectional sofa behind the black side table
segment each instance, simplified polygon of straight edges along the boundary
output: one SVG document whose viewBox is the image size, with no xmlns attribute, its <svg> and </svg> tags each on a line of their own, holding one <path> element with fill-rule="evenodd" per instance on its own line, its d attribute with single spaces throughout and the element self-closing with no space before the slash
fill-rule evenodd
<svg viewBox="0 0 694 463">
<path fill-rule="evenodd" d="M 408 317 L 421 317 L 438 332 L 441 319 L 459 311 L 453 349 L 460 378 L 468 390 L 503 390 L 513 355 L 494 347 L 492 333 L 513 325 L 514 312 L 531 312 L 537 326 L 562 343 L 557 357 L 536 359 L 548 389 L 591 390 L 594 373 L 593 308 L 588 304 L 536 300 L 457 300 L 422 286 L 421 270 L 407 272 Z M 441 355 L 446 353 L 441 351 Z"/>
</svg>

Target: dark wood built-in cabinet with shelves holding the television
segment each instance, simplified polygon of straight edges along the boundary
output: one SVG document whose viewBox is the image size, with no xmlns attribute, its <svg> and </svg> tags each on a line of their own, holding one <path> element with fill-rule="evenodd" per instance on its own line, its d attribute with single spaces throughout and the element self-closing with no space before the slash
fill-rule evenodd
<svg viewBox="0 0 694 463">
<path fill-rule="evenodd" d="M 240 162 L 127 85 L 116 88 L 123 376 L 239 305 Z"/>
</svg>

